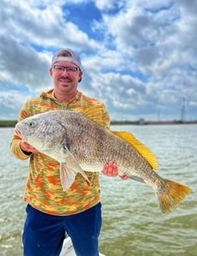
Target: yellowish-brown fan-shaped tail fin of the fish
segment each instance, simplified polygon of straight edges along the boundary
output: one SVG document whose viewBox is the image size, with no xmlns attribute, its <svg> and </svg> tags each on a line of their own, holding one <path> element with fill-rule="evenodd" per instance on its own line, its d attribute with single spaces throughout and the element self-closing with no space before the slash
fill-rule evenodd
<svg viewBox="0 0 197 256">
<path fill-rule="evenodd" d="M 168 179 L 164 179 L 162 187 L 156 193 L 159 199 L 159 207 L 162 212 L 171 212 L 191 192 L 187 186 Z"/>
</svg>

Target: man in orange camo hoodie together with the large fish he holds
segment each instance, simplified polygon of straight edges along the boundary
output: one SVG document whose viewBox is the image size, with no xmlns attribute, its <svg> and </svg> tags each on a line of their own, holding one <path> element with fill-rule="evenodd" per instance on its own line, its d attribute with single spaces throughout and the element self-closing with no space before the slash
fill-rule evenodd
<svg viewBox="0 0 197 256">
<path fill-rule="evenodd" d="M 55 53 L 49 72 L 54 90 L 24 104 L 11 143 L 17 158 L 30 158 L 24 254 L 59 255 L 66 230 L 78 256 L 96 256 L 99 172 L 148 184 L 161 212 L 191 189 L 159 176 L 154 153 L 130 132 L 110 131 L 105 106 L 78 91 L 81 62 L 71 49 Z"/>
</svg>

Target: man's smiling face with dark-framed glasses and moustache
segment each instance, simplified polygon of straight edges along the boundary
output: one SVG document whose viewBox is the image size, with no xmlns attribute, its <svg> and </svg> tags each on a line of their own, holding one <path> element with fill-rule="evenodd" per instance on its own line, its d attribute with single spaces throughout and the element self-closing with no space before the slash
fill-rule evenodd
<svg viewBox="0 0 197 256">
<path fill-rule="evenodd" d="M 76 71 L 61 70 L 61 67 L 77 67 L 70 61 L 57 61 L 55 68 L 50 68 L 49 72 L 54 80 L 55 94 L 68 94 L 75 96 L 77 93 L 78 80 L 82 77 L 79 68 Z M 60 68 L 59 68 L 60 67 Z"/>
</svg>

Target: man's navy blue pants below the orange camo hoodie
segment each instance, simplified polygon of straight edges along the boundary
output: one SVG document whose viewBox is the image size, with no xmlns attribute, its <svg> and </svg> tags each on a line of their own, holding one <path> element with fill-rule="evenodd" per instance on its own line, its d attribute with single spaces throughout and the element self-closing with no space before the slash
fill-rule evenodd
<svg viewBox="0 0 197 256">
<path fill-rule="evenodd" d="M 98 256 L 98 236 L 101 230 L 101 203 L 68 216 L 54 216 L 26 207 L 23 232 L 25 256 L 58 256 L 65 231 L 72 239 L 78 256 Z"/>
</svg>

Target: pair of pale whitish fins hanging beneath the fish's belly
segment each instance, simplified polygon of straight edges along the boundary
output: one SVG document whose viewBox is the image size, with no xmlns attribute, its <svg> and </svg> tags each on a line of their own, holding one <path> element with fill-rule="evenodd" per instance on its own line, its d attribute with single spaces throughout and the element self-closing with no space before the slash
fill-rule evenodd
<svg viewBox="0 0 197 256">
<path fill-rule="evenodd" d="M 67 190 L 71 187 L 72 183 L 75 180 L 75 176 L 78 172 L 90 183 L 89 178 L 82 170 L 81 166 L 78 165 L 77 160 L 73 157 L 71 152 L 68 150 L 67 145 L 62 145 L 62 151 L 64 154 L 65 162 L 61 163 L 60 166 L 60 177 L 61 177 L 61 186 L 64 190 Z"/>
</svg>

